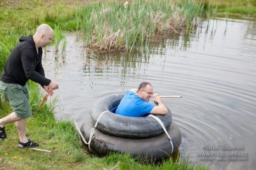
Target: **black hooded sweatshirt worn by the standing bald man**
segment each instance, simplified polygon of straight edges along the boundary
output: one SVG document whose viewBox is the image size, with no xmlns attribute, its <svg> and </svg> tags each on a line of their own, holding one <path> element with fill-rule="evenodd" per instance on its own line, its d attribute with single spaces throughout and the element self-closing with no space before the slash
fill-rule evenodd
<svg viewBox="0 0 256 170">
<path fill-rule="evenodd" d="M 38 48 L 37 54 L 32 36 L 22 36 L 19 41 L 5 64 L 1 81 L 24 86 L 30 79 L 38 82 L 42 87 L 48 86 L 51 80 L 46 79 L 44 75 L 42 48 Z"/>
</svg>

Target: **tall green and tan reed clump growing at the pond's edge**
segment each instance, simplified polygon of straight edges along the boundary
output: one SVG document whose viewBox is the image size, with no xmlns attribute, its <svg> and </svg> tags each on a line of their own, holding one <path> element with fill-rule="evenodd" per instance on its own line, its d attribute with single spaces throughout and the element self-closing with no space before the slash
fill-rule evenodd
<svg viewBox="0 0 256 170">
<path fill-rule="evenodd" d="M 77 29 L 86 35 L 86 45 L 100 50 L 127 49 L 150 41 L 152 35 L 182 27 L 196 26 L 204 14 L 204 5 L 193 0 L 95 3 L 76 8 Z"/>
</svg>

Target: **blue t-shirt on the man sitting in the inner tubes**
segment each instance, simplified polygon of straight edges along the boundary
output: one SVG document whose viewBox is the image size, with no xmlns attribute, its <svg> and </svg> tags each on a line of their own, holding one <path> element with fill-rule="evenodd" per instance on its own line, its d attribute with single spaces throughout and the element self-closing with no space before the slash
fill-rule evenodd
<svg viewBox="0 0 256 170">
<path fill-rule="evenodd" d="M 141 99 L 133 91 L 125 93 L 116 109 L 116 114 L 130 117 L 148 116 L 155 106 Z"/>
</svg>

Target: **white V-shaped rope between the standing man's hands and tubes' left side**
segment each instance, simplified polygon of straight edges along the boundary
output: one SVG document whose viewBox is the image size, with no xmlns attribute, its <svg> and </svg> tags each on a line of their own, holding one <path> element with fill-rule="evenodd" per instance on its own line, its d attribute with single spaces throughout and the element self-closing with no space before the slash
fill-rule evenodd
<svg viewBox="0 0 256 170">
<path fill-rule="evenodd" d="M 63 104 L 65 105 L 65 102 L 64 102 L 63 98 L 61 97 L 60 88 L 58 88 L 58 90 L 59 90 L 59 95 L 60 95 L 61 101 L 62 101 Z M 66 105 L 66 107 L 67 107 L 67 105 Z M 68 107 L 67 107 L 67 109 L 68 109 Z M 69 110 L 69 109 L 68 109 L 68 110 Z M 72 115 L 70 114 L 72 120 L 74 121 L 74 124 L 75 124 L 75 126 L 76 126 L 76 129 L 77 129 L 77 131 L 79 132 L 79 135 L 81 136 L 83 142 L 84 142 L 85 144 L 88 144 L 88 148 L 89 148 L 90 151 L 91 151 L 90 144 L 91 144 L 91 141 L 92 141 L 92 137 L 93 137 L 95 128 L 97 127 L 98 122 L 99 122 L 101 116 L 102 116 L 105 112 L 108 112 L 108 111 L 104 111 L 104 112 L 100 113 L 99 118 L 97 119 L 97 121 L 96 121 L 94 127 L 93 127 L 93 128 L 91 129 L 91 131 L 90 131 L 90 137 L 89 137 L 89 141 L 88 141 L 88 142 L 84 139 L 84 136 L 83 136 L 81 130 L 79 129 L 79 127 L 78 127 L 78 125 L 77 125 L 77 123 L 76 123 L 76 120 L 75 120 L 75 119 L 72 117 Z"/>
</svg>

